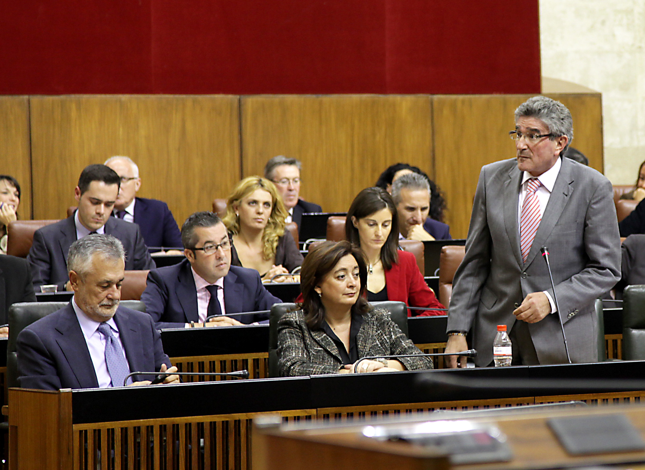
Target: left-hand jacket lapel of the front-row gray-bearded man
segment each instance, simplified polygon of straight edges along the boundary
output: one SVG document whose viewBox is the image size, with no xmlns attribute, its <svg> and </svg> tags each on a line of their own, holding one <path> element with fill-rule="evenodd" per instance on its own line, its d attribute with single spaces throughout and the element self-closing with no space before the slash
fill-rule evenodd
<svg viewBox="0 0 645 470">
<path fill-rule="evenodd" d="M 99 381 L 94 371 L 94 363 L 71 302 L 65 307 L 65 313 L 55 326 L 59 333 L 56 343 L 70 364 L 80 388 L 97 388 Z"/>
</svg>

